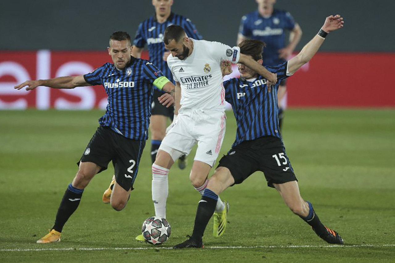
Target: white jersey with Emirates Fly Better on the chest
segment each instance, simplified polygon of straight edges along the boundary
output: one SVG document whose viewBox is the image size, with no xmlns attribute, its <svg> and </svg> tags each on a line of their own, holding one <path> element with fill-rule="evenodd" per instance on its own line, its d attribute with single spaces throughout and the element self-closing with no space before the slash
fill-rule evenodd
<svg viewBox="0 0 395 263">
<path fill-rule="evenodd" d="M 240 48 L 192 39 L 194 49 L 190 56 L 180 60 L 167 57 L 175 81 L 181 84 L 182 109 L 225 110 L 225 89 L 222 85 L 221 61 L 239 62 Z"/>
</svg>

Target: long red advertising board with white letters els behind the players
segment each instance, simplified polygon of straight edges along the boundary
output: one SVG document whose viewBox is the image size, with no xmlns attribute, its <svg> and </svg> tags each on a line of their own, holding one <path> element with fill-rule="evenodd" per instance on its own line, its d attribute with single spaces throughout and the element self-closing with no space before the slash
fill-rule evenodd
<svg viewBox="0 0 395 263">
<path fill-rule="evenodd" d="M 106 51 L 0 51 L 0 109 L 105 108 L 102 86 L 13 88 L 27 79 L 83 75 L 105 62 Z M 288 79 L 288 106 L 395 107 L 393 64 L 395 53 L 318 53 Z"/>
</svg>

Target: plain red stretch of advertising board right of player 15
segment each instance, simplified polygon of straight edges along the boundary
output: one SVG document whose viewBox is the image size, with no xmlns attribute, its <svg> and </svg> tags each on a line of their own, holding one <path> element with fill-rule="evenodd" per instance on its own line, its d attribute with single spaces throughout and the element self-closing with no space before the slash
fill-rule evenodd
<svg viewBox="0 0 395 263">
<path fill-rule="evenodd" d="M 395 107 L 395 53 L 318 53 L 288 79 L 290 107 Z"/>
</svg>

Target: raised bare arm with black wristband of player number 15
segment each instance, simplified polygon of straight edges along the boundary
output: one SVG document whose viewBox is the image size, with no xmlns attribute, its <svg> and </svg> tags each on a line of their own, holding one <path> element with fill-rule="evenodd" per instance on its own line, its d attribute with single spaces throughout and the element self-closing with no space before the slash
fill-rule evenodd
<svg viewBox="0 0 395 263">
<path fill-rule="evenodd" d="M 303 47 L 299 54 L 288 61 L 288 71 L 293 74 L 301 66 L 309 62 L 320 49 L 322 43 L 324 43 L 325 36 L 331 31 L 342 28 L 343 25 L 344 21 L 340 15 L 327 17 L 320 32 Z"/>
</svg>

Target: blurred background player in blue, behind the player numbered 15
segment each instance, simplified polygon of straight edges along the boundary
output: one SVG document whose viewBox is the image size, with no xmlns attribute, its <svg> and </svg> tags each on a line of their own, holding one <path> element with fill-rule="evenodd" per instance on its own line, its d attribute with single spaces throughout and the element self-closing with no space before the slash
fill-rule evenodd
<svg viewBox="0 0 395 263">
<path fill-rule="evenodd" d="M 241 18 L 237 44 L 245 39 L 259 39 L 266 43 L 262 60 L 265 66 L 275 66 L 286 62 L 302 36 L 299 24 L 295 23 L 289 12 L 274 9 L 276 0 L 256 0 L 258 10 L 248 13 Z M 290 31 L 290 41 L 286 45 L 285 31 Z M 278 122 L 280 130 L 284 115 L 286 80 L 283 79 L 278 87 Z"/>
</svg>

